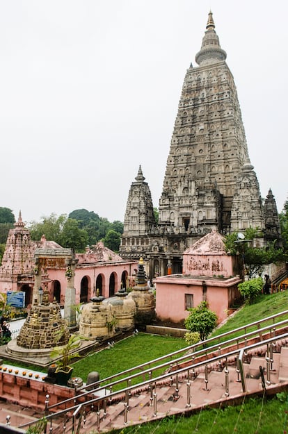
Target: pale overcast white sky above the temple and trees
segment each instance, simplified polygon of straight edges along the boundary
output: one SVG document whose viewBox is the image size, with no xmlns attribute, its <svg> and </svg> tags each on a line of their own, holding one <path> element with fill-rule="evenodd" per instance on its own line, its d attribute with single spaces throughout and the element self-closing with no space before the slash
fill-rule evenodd
<svg viewBox="0 0 288 434">
<path fill-rule="evenodd" d="M 262 197 L 287 187 L 287 0 L 0 0 L 0 206 L 123 221 L 141 164 L 159 206 L 209 10 Z"/>
</svg>

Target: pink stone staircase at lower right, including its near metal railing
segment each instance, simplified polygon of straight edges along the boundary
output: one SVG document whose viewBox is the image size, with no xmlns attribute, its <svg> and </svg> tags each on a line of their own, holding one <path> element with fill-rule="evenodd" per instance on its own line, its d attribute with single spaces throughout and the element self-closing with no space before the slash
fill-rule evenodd
<svg viewBox="0 0 288 434">
<path fill-rule="evenodd" d="M 163 419 L 168 415 L 189 415 L 205 406 L 241 403 L 244 394 L 262 395 L 264 389 L 266 394 L 275 394 L 288 386 L 288 347 L 283 346 L 286 342 L 288 334 L 276 344 L 270 341 L 259 344 L 256 349 L 248 347 L 246 361 L 243 362 L 244 385 L 233 354 L 228 358 L 221 356 L 222 361 L 225 360 L 224 365 L 220 364 L 219 358 L 209 360 L 207 364 L 193 360 L 194 366 L 200 365 L 196 369 L 180 368 L 159 381 L 155 379 L 150 384 L 142 383 L 133 390 L 113 394 L 111 398 L 107 394 L 105 404 L 104 401 L 86 403 L 87 412 L 79 419 L 73 419 L 71 410 L 65 433 L 106 433 L 112 429 Z M 63 433 L 63 426 L 54 428 L 52 433 Z"/>
</svg>

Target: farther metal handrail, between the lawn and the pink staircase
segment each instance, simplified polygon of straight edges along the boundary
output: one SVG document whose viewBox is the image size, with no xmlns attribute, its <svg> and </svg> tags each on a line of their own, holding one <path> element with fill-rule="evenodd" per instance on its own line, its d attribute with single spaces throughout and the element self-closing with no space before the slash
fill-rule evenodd
<svg viewBox="0 0 288 434">
<path fill-rule="evenodd" d="M 259 323 L 256 322 L 255 324 L 259 324 Z M 282 320 L 281 322 L 278 322 L 278 323 L 274 323 L 273 325 L 264 326 L 263 328 L 257 328 L 255 331 L 251 331 L 251 332 L 246 333 L 246 334 L 241 335 L 241 336 L 233 337 L 232 339 L 227 340 L 227 341 L 224 341 L 224 342 L 221 343 L 221 346 L 222 346 L 222 347 L 221 347 L 221 350 L 225 349 L 225 347 L 228 347 L 230 344 L 233 344 L 233 343 L 237 343 L 237 349 L 240 348 L 240 345 L 241 345 L 241 344 L 244 345 L 244 346 L 246 346 L 246 342 L 247 342 L 248 338 L 251 338 L 251 337 L 253 337 L 253 336 L 255 336 L 255 335 L 259 335 L 260 340 L 262 340 L 262 333 L 264 333 L 265 331 L 270 331 L 270 334 L 271 334 L 271 333 L 274 333 L 274 329 L 275 329 L 276 327 L 280 327 L 280 326 L 284 326 L 284 325 L 288 325 L 288 319 L 286 319 L 286 320 Z M 224 333 L 224 334 L 225 334 L 225 333 Z M 208 340 L 207 340 L 207 341 L 208 341 Z M 202 344 L 203 344 L 203 343 L 206 343 L 207 341 L 202 342 Z M 191 347 L 195 347 L 195 346 L 191 346 Z M 189 347 L 189 348 L 191 348 L 191 347 Z M 187 350 L 187 348 L 186 348 L 186 350 Z M 145 370 L 142 370 L 141 372 L 137 372 L 136 374 L 131 374 L 131 375 L 129 375 L 129 376 L 125 376 L 125 377 L 120 378 L 120 379 L 118 379 L 118 380 L 111 381 L 111 383 L 108 383 L 108 384 L 102 385 L 102 386 L 100 386 L 100 387 L 95 388 L 94 390 L 89 390 L 89 391 L 83 392 L 83 393 L 81 393 L 81 394 L 79 394 L 79 392 L 81 392 L 81 390 L 85 390 L 87 386 L 79 387 L 79 388 L 77 389 L 77 396 L 76 396 L 76 397 L 79 399 L 79 398 L 81 398 L 81 397 L 85 397 L 86 395 L 91 394 L 92 392 L 98 392 L 98 393 L 99 393 L 99 391 L 101 391 L 101 390 L 104 390 L 104 392 L 105 392 L 105 394 L 106 394 L 106 389 L 107 389 L 107 388 L 110 388 L 110 390 L 113 390 L 113 387 L 114 387 L 115 385 L 120 384 L 120 383 L 125 383 L 125 382 L 127 382 L 128 380 L 131 381 L 131 380 L 133 380 L 134 378 L 137 378 L 138 376 L 145 376 L 145 374 L 150 374 L 150 376 L 151 376 L 151 378 L 152 378 L 152 373 L 153 373 L 155 370 L 158 370 L 158 369 L 165 369 L 165 368 L 171 367 L 171 365 L 174 365 L 174 366 L 176 365 L 176 367 L 177 367 L 177 365 L 180 365 L 180 364 L 182 364 L 183 362 L 185 362 L 186 360 L 190 360 L 191 358 L 195 358 L 195 357 L 199 358 L 199 357 L 201 357 L 201 356 L 205 356 L 205 357 L 206 357 L 206 360 L 209 360 L 209 359 L 208 359 L 209 354 L 210 354 L 210 353 L 213 353 L 213 352 L 216 351 L 216 350 L 219 351 L 219 344 L 214 344 L 214 345 L 211 345 L 211 347 L 208 347 L 208 348 L 202 348 L 202 349 L 200 349 L 200 350 L 198 350 L 198 351 L 194 351 L 194 352 L 191 352 L 191 351 L 190 351 L 189 354 L 186 353 L 186 354 L 184 354 L 184 356 L 182 356 L 182 357 L 180 357 L 180 358 L 177 358 L 177 359 L 175 359 L 175 360 L 170 360 L 170 361 L 168 361 L 168 362 L 163 362 L 163 363 L 161 363 L 160 365 L 156 365 L 156 366 L 154 366 L 154 367 L 149 367 L 149 368 L 147 368 L 147 369 L 145 369 Z M 178 353 L 178 352 L 179 352 L 179 351 L 175 351 L 175 353 Z M 169 356 L 171 356 L 172 354 L 175 354 L 175 353 L 171 353 Z M 221 356 L 221 354 L 219 354 L 219 356 Z M 161 358 L 157 358 L 157 359 L 155 359 L 155 360 L 161 360 L 161 359 L 163 359 L 163 358 L 161 357 Z M 155 360 L 152 360 L 152 362 L 155 362 Z M 171 364 L 171 361 L 173 362 L 172 364 Z M 151 364 L 152 362 L 150 362 L 150 364 Z M 143 365 L 140 365 L 140 366 L 145 366 L 145 365 L 147 365 L 147 363 L 143 363 Z M 127 369 L 127 371 L 129 372 L 129 369 Z M 124 372 L 122 372 L 122 374 L 124 374 Z M 118 376 L 119 376 L 119 374 L 118 374 Z M 107 379 L 107 378 L 106 378 L 106 379 Z M 106 379 L 104 379 L 103 382 L 104 382 Z M 94 384 L 96 384 L 96 385 L 98 386 L 99 383 L 100 383 L 100 381 L 97 381 L 97 382 L 95 382 L 95 383 L 90 383 L 90 384 L 89 384 L 89 388 L 90 388 L 90 387 L 93 387 Z M 110 394 L 109 394 L 109 395 L 110 395 Z M 58 406 L 60 406 L 60 405 L 67 404 L 67 403 L 69 403 L 70 401 L 74 401 L 74 399 L 75 399 L 76 397 L 72 397 L 72 398 L 69 398 L 69 399 L 65 399 L 65 401 L 61 401 L 61 402 L 59 402 L 59 403 L 54 403 L 52 406 L 49 406 L 49 410 L 51 410 L 52 408 L 58 407 Z"/>
</svg>

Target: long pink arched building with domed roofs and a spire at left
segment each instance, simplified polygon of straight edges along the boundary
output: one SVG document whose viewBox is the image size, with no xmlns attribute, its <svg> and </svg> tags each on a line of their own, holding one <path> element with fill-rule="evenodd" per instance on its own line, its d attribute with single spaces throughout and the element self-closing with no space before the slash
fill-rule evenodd
<svg viewBox="0 0 288 434">
<path fill-rule="evenodd" d="M 64 305 L 67 288 L 67 265 L 63 256 L 70 249 L 63 249 L 53 241 L 47 241 L 43 235 L 40 242 L 33 242 L 30 233 L 22 222 L 21 212 L 14 228 L 10 229 L 0 267 L 0 292 L 25 292 L 25 306 L 33 302 L 35 282 L 35 250 L 47 251 L 49 259 L 41 274 L 41 287 L 49 292 L 50 301 L 54 298 Z M 61 256 L 61 260 L 50 258 Z M 123 260 L 117 253 L 98 242 L 86 249 L 85 253 L 76 253 L 74 269 L 74 287 L 76 303 L 90 300 L 96 290 L 104 297 L 111 297 L 122 287 L 133 285 L 138 262 Z"/>
</svg>

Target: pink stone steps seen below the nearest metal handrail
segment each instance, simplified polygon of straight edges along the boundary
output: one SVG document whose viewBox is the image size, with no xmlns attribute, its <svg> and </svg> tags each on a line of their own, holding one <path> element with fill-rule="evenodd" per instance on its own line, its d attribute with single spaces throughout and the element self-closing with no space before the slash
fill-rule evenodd
<svg viewBox="0 0 288 434">
<path fill-rule="evenodd" d="M 244 363 L 246 376 L 246 394 L 263 394 L 265 387 L 267 394 L 274 394 L 288 385 L 288 347 L 282 347 L 280 353 L 273 353 L 272 370 L 267 384 L 266 357 L 252 356 L 250 363 Z M 271 363 L 269 361 L 269 363 Z M 264 382 L 259 367 L 264 367 Z M 228 371 L 228 372 L 227 372 Z M 207 378 L 207 379 L 206 379 Z M 228 378 L 228 383 L 227 382 Z M 207 377 L 200 372 L 194 379 L 181 378 L 176 384 L 167 384 L 157 387 L 151 394 L 150 390 L 139 392 L 129 398 L 129 407 L 121 401 L 107 406 L 104 410 L 90 412 L 86 415 L 85 424 L 82 423 L 80 433 L 90 433 L 99 430 L 100 433 L 125 426 L 141 424 L 168 415 L 192 413 L 205 406 L 219 406 L 237 403 L 243 399 L 242 383 L 236 365 L 229 365 L 222 371 L 211 370 Z M 156 394 L 156 396 L 153 396 Z M 190 394 L 190 397 L 188 396 Z M 157 401 L 155 401 L 157 399 Z M 126 416 L 125 416 L 126 412 Z"/>
</svg>

